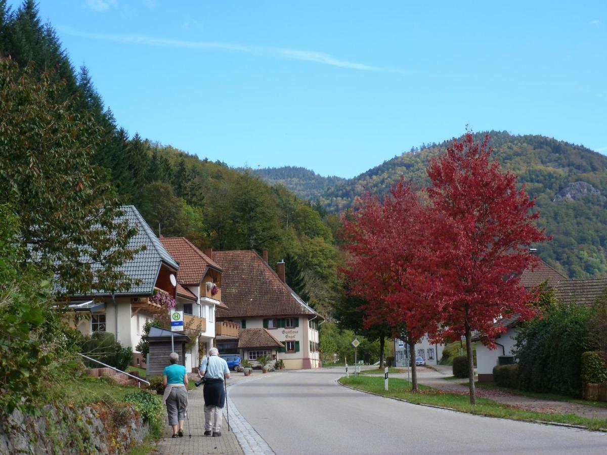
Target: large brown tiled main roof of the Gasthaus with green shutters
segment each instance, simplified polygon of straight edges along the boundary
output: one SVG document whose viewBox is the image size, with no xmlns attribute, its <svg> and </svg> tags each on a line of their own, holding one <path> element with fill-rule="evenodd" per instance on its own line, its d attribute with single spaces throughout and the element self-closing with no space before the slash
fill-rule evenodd
<svg viewBox="0 0 607 455">
<path fill-rule="evenodd" d="M 255 251 L 214 251 L 222 267 L 222 318 L 317 315 Z M 319 318 L 322 316 L 318 315 Z"/>
</svg>

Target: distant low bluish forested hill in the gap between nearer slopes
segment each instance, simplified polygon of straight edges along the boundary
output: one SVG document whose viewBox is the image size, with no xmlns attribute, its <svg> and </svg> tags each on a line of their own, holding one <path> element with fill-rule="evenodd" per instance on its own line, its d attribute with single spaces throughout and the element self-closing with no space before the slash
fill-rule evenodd
<svg viewBox="0 0 607 455">
<path fill-rule="evenodd" d="M 243 172 L 245 169 L 237 170 Z M 316 200 L 324 195 L 330 187 L 345 181 L 345 178 L 342 177 L 322 177 L 313 170 L 296 166 L 263 167 L 262 169 L 249 169 L 249 172 L 270 184 L 283 184 L 288 190 L 307 200 Z"/>
</svg>

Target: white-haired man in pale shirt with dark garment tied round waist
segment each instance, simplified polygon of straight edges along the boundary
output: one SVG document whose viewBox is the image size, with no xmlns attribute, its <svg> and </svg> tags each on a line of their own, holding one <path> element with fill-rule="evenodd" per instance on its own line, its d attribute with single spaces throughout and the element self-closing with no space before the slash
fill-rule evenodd
<svg viewBox="0 0 607 455">
<path fill-rule="evenodd" d="M 219 357 L 217 348 L 209 349 L 209 354 L 198 370 L 205 377 L 205 436 L 222 436 L 222 408 L 226 401 L 223 381 L 230 378 L 228 362 Z"/>
</svg>

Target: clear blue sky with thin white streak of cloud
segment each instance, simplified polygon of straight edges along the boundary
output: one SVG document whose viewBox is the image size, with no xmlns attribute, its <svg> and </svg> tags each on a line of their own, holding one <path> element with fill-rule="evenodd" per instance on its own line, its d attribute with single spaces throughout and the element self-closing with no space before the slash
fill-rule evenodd
<svg viewBox="0 0 607 455">
<path fill-rule="evenodd" d="M 121 126 L 230 166 L 353 177 L 466 124 L 607 153 L 604 0 L 39 8 Z"/>
</svg>

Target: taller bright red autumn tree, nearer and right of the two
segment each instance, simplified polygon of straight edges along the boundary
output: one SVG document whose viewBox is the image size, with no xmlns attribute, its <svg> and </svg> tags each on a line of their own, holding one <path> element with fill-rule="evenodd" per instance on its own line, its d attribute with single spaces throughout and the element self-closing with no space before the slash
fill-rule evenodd
<svg viewBox="0 0 607 455">
<path fill-rule="evenodd" d="M 517 189 L 516 177 L 502 172 L 492 160 L 489 136 L 476 142 L 468 132 L 453 140 L 446 153 L 430 160 L 427 189 L 439 221 L 433 235 L 437 260 L 443 266 L 443 314 L 447 335 L 466 335 L 470 368 L 470 403 L 476 403 L 472 331 L 486 335 L 486 343 L 503 328 L 496 319 L 518 313 L 531 318 L 532 295 L 520 283 L 524 269 L 538 259 L 529 254 L 532 243 L 546 240 L 530 214 L 535 201 Z"/>
</svg>

